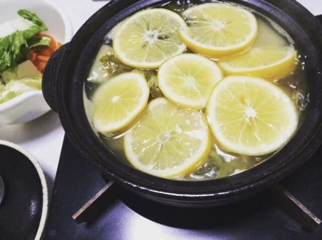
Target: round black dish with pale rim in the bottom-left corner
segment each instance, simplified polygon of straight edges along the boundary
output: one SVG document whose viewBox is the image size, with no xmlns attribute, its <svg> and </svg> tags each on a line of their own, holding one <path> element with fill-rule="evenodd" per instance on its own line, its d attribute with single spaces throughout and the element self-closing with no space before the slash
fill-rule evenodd
<svg viewBox="0 0 322 240">
<path fill-rule="evenodd" d="M 40 239 L 48 190 L 44 173 L 22 147 L 0 140 L 0 176 L 5 194 L 0 203 L 0 239 Z"/>
</svg>

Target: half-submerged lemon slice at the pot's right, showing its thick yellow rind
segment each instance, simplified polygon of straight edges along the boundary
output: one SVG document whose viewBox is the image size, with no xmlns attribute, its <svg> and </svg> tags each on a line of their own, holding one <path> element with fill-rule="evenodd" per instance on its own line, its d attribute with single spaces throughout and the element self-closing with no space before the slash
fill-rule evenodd
<svg viewBox="0 0 322 240">
<path fill-rule="evenodd" d="M 297 51 L 290 46 L 257 46 L 233 59 L 219 61 L 226 75 L 252 75 L 278 80 L 296 67 Z"/>
</svg>

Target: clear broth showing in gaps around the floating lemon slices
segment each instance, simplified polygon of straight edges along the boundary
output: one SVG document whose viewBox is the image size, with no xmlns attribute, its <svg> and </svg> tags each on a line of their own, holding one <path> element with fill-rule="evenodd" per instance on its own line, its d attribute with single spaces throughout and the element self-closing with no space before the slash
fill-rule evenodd
<svg viewBox="0 0 322 240">
<path fill-rule="evenodd" d="M 219 2 L 219 1 L 199 1 L 200 4 L 206 2 Z M 229 4 L 229 3 L 228 3 Z M 178 14 L 182 13 L 186 9 L 195 6 L 192 1 L 171 1 L 163 6 L 158 6 L 162 8 L 169 9 Z M 247 8 L 246 8 L 247 9 Z M 256 42 L 256 45 L 264 45 L 274 43 L 277 46 L 294 46 L 294 41 L 291 37 L 284 31 L 278 24 L 269 20 L 265 16 L 256 13 L 250 9 L 258 20 L 259 32 Z M 121 23 L 120 23 L 121 24 Z M 117 26 L 112 29 L 105 37 L 103 44 L 112 46 L 113 44 L 113 33 Z M 295 47 L 296 49 L 296 47 Z M 191 52 L 189 49 L 186 52 Z M 299 112 L 299 126 L 305 117 L 305 108 L 307 103 L 309 102 L 309 93 L 307 87 L 307 73 L 305 69 L 305 54 L 298 54 L 298 64 L 296 70 L 283 79 L 279 81 L 274 81 L 274 84 L 283 89 L 294 101 L 297 106 L 297 110 Z M 215 60 L 215 59 L 213 59 Z M 128 70 L 125 70 L 128 71 Z M 124 71 L 124 72 L 125 72 Z M 157 72 L 156 70 L 154 71 Z M 121 73 L 121 72 L 120 72 Z M 90 123 L 92 123 L 92 104 L 91 97 L 95 90 L 100 86 L 98 83 L 92 83 L 89 81 L 85 82 L 84 88 L 84 103 L 86 107 L 86 112 L 89 118 Z M 157 88 L 150 89 L 150 99 L 154 99 L 162 95 L 162 93 L 158 92 Z M 154 97 L 153 97 L 154 96 Z M 93 128 L 95 130 L 95 128 Z M 123 148 L 123 136 L 126 132 L 122 132 L 120 134 L 101 134 L 97 132 L 100 140 L 109 148 L 121 161 L 129 164 Z M 192 173 L 188 176 L 177 177 L 177 180 L 209 180 L 216 178 L 223 178 L 227 176 L 231 176 L 234 174 L 238 174 L 240 172 L 244 172 L 263 161 L 266 161 L 273 154 L 267 154 L 263 156 L 246 156 L 235 153 L 226 152 L 220 147 L 218 143 L 216 143 L 215 139 L 213 140 L 212 150 L 207 158 L 207 161 L 203 164 L 203 166 L 199 167 L 195 173 Z"/>
</svg>

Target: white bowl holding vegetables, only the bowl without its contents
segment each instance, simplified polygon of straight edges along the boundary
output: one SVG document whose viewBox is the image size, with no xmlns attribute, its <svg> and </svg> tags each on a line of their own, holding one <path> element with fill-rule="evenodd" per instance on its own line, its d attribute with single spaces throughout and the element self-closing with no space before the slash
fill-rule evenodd
<svg viewBox="0 0 322 240">
<path fill-rule="evenodd" d="M 71 23 L 54 0 L 0 0 L 0 23 L 18 17 L 18 10 L 27 9 L 38 15 L 46 24 L 50 35 L 57 41 L 69 42 L 73 35 Z M 50 110 L 42 91 L 25 92 L 0 104 L 0 125 L 19 124 L 40 117 Z"/>
</svg>

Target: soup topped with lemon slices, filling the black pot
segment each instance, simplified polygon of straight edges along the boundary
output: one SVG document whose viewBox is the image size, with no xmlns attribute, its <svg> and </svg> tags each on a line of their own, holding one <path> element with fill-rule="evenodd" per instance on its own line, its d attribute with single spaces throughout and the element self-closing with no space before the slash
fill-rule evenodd
<svg viewBox="0 0 322 240">
<path fill-rule="evenodd" d="M 120 161 L 209 180 L 269 159 L 309 101 L 305 55 L 278 24 L 229 2 L 172 1 L 115 26 L 85 81 L 88 119 Z"/>
</svg>

